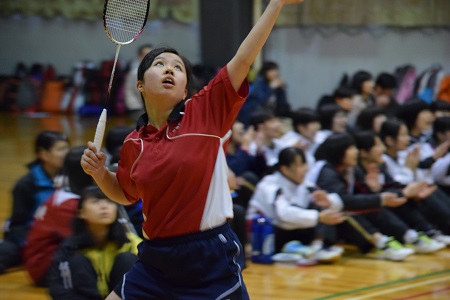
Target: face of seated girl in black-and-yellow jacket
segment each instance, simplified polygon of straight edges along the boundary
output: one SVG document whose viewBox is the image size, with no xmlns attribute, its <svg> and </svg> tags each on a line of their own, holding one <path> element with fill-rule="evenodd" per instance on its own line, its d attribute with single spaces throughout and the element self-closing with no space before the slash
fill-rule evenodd
<svg viewBox="0 0 450 300">
<path fill-rule="evenodd" d="M 87 198 L 80 209 L 80 218 L 90 225 L 111 225 L 117 219 L 117 204 L 105 198 Z"/>
</svg>

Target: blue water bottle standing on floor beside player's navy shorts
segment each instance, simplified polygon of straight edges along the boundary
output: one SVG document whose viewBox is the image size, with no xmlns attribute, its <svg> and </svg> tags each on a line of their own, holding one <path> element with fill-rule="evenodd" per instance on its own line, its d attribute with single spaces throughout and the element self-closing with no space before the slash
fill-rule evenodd
<svg viewBox="0 0 450 300">
<path fill-rule="evenodd" d="M 275 254 L 275 235 L 272 222 L 257 216 L 252 222 L 252 262 L 271 264 Z"/>
</svg>

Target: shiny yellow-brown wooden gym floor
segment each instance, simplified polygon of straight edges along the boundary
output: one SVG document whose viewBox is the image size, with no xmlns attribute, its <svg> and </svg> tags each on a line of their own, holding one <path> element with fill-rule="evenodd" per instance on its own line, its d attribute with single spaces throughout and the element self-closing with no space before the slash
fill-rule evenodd
<svg viewBox="0 0 450 300">
<path fill-rule="evenodd" d="M 42 129 L 64 130 L 72 145 L 92 140 L 97 119 L 71 116 L 20 116 L 0 113 L 0 222 L 11 209 L 11 189 L 33 159 L 33 138 Z M 108 126 L 131 125 L 110 118 Z M 251 299 L 450 299 L 450 249 L 387 262 L 346 252 L 333 265 L 311 267 L 248 263 L 244 280 Z M 24 271 L 0 275 L 0 299 L 49 299 Z M 63 299 L 62 299 L 63 300 Z"/>
</svg>

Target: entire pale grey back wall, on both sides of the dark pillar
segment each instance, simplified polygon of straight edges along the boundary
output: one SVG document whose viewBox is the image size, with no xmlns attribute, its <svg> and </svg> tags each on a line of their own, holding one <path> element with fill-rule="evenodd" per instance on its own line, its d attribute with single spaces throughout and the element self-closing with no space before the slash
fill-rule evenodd
<svg viewBox="0 0 450 300">
<path fill-rule="evenodd" d="M 59 74 L 67 75 L 78 61 L 98 63 L 112 59 L 115 53 L 115 44 L 106 37 L 100 21 L 0 19 L 0 40 L 0 74 L 11 74 L 22 61 L 27 65 L 51 63 Z M 122 47 L 120 60 L 129 61 L 144 42 L 167 44 L 200 63 L 198 24 L 149 22 L 136 42 Z M 366 69 L 376 75 L 406 63 L 421 72 L 440 63 L 450 73 L 450 32 L 390 30 L 376 37 L 367 32 L 323 37 L 298 28 L 280 28 L 273 31 L 264 55 L 280 64 L 292 106 L 314 106 L 323 93 L 332 92 L 344 72 Z"/>
</svg>

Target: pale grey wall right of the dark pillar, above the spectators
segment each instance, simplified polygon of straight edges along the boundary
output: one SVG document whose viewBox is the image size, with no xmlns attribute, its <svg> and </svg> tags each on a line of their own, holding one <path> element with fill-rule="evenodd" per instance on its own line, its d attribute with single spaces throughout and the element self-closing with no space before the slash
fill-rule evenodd
<svg viewBox="0 0 450 300">
<path fill-rule="evenodd" d="M 332 93 L 344 73 L 360 69 L 376 76 L 410 63 L 420 73 L 439 63 L 450 73 L 450 32 L 389 30 L 379 36 L 362 32 L 308 37 L 298 28 L 275 29 L 264 54 L 279 63 L 292 105 L 314 106 L 322 94 Z"/>
</svg>

